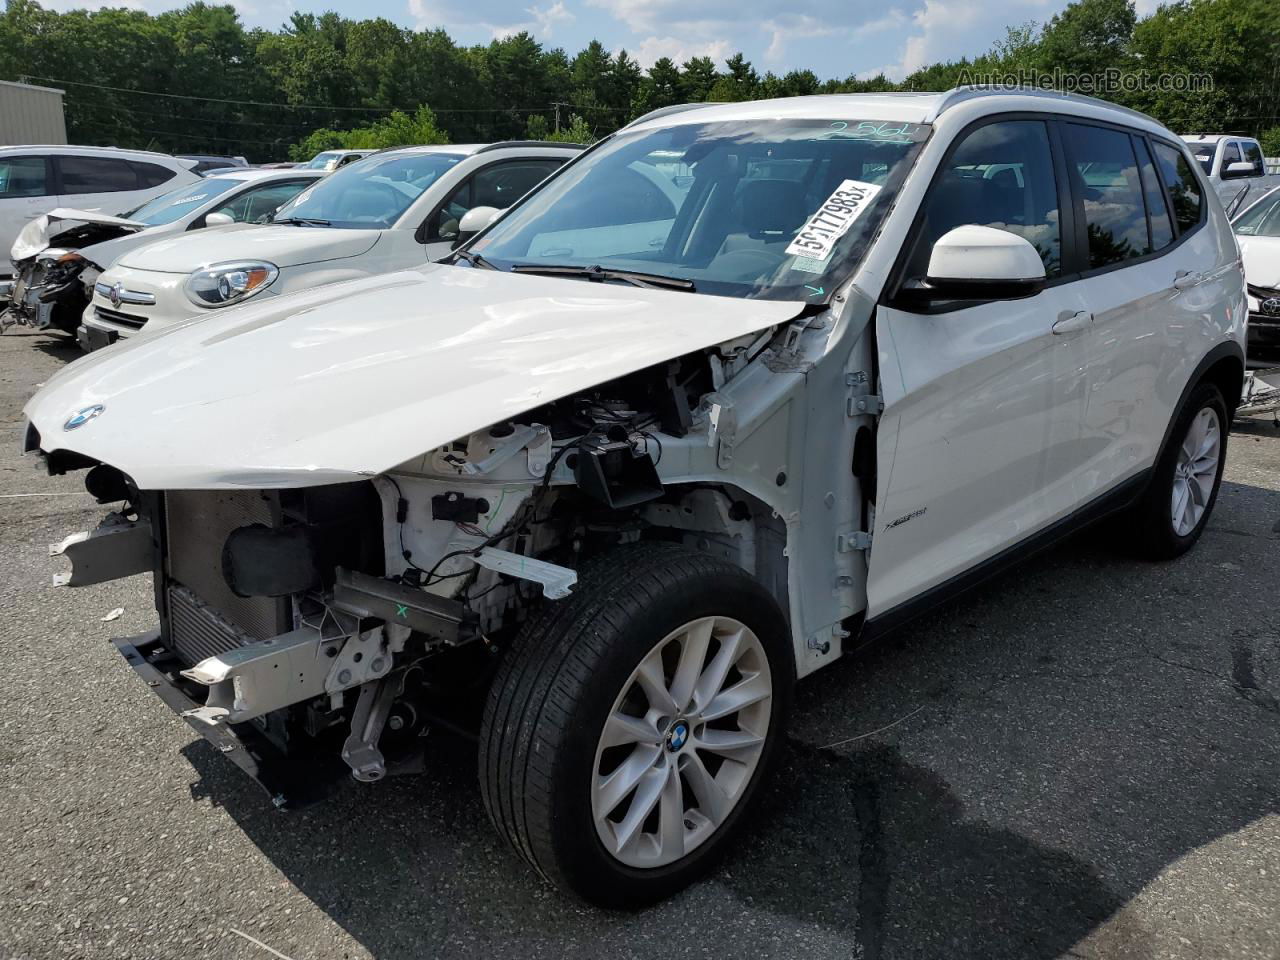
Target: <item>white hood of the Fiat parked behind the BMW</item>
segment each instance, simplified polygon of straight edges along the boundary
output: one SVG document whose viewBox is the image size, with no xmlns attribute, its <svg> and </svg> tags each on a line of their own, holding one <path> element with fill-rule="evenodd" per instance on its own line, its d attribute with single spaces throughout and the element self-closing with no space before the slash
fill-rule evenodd
<svg viewBox="0 0 1280 960">
<path fill-rule="evenodd" d="M 297 266 L 360 256 L 379 237 L 381 230 L 233 224 L 147 243 L 124 253 L 119 264 L 168 274 L 186 274 L 205 264 L 228 260 L 265 260 L 276 266 Z"/>
</svg>

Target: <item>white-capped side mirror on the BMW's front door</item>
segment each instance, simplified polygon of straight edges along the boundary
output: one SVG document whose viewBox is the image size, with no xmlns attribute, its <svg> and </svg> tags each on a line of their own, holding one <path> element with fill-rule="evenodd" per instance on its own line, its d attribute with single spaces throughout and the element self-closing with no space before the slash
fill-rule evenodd
<svg viewBox="0 0 1280 960">
<path fill-rule="evenodd" d="M 927 300 L 1018 300 L 1044 289 L 1044 262 L 1023 237 L 968 224 L 942 234 L 929 255 Z"/>
</svg>

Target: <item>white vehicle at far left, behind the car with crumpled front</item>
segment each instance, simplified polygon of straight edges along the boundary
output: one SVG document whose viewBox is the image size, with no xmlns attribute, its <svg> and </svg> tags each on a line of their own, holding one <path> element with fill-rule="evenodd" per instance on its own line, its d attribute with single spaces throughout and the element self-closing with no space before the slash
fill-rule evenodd
<svg viewBox="0 0 1280 960">
<path fill-rule="evenodd" d="M 59 206 L 119 214 L 200 179 L 191 160 L 115 147 L 0 147 L 0 251 Z M 0 260 L 0 278 L 12 276 Z M 8 288 L 4 291 L 8 293 Z"/>
</svg>

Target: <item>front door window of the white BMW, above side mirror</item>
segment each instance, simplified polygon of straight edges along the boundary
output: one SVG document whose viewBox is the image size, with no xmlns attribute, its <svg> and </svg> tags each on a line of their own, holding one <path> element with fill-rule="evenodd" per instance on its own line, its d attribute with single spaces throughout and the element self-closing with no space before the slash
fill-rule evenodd
<svg viewBox="0 0 1280 960">
<path fill-rule="evenodd" d="M 908 276 L 928 270 L 942 234 L 978 224 L 1030 242 L 1044 274 L 1062 273 L 1062 228 L 1048 131 L 1041 120 L 1001 120 L 969 133 L 934 175 L 924 207 L 924 229 Z"/>
</svg>

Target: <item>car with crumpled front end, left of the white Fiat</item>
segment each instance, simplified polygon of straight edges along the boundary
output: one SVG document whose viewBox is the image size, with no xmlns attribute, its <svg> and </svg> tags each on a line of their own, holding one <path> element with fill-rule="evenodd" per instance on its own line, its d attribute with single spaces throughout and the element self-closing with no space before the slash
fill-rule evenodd
<svg viewBox="0 0 1280 960">
<path fill-rule="evenodd" d="M 116 257 L 161 237 L 205 227 L 261 223 L 324 175 L 319 170 L 225 170 L 218 177 L 184 183 L 124 211 L 123 216 L 64 207 L 37 216 L 14 241 L 12 261 L 17 280 L 0 324 L 73 334 L 79 328 L 84 349 L 105 347 L 119 335 L 115 328 L 127 326 L 127 314 L 119 308 L 132 305 L 132 298 L 104 284 L 102 297 L 111 306 L 99 311 L 108 311 L 108 323 L 81 326 L 81 315 L 102 270 Z"/>
</svg>

